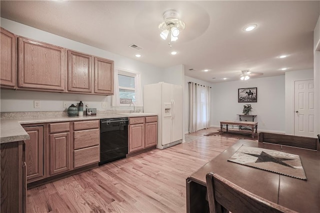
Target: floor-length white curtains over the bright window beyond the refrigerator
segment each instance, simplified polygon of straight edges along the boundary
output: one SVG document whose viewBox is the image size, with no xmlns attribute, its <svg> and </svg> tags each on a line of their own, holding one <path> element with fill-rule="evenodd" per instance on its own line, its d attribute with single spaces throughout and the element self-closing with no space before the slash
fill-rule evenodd
<svg viewBox="0 0 320 213">
<path fill-rule="evenodd" d="M 189 83 L 189 132 L 210 127 L 210 87 Z"/>
</svg>

